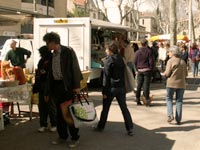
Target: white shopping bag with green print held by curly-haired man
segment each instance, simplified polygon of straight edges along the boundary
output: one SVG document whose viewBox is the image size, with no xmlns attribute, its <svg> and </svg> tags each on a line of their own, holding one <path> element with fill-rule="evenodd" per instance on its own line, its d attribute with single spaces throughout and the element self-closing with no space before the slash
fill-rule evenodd
<svg viewBox="0 0 200 150">
<path fill-rule="evenodd" d="M 69 106 L 74 126 L 76 128 L 91 126 L 97 124 L 98 118 L 94 103 L 88 100 L 84 95 L 77 96 L 78 101 Z"/>
</svg>

